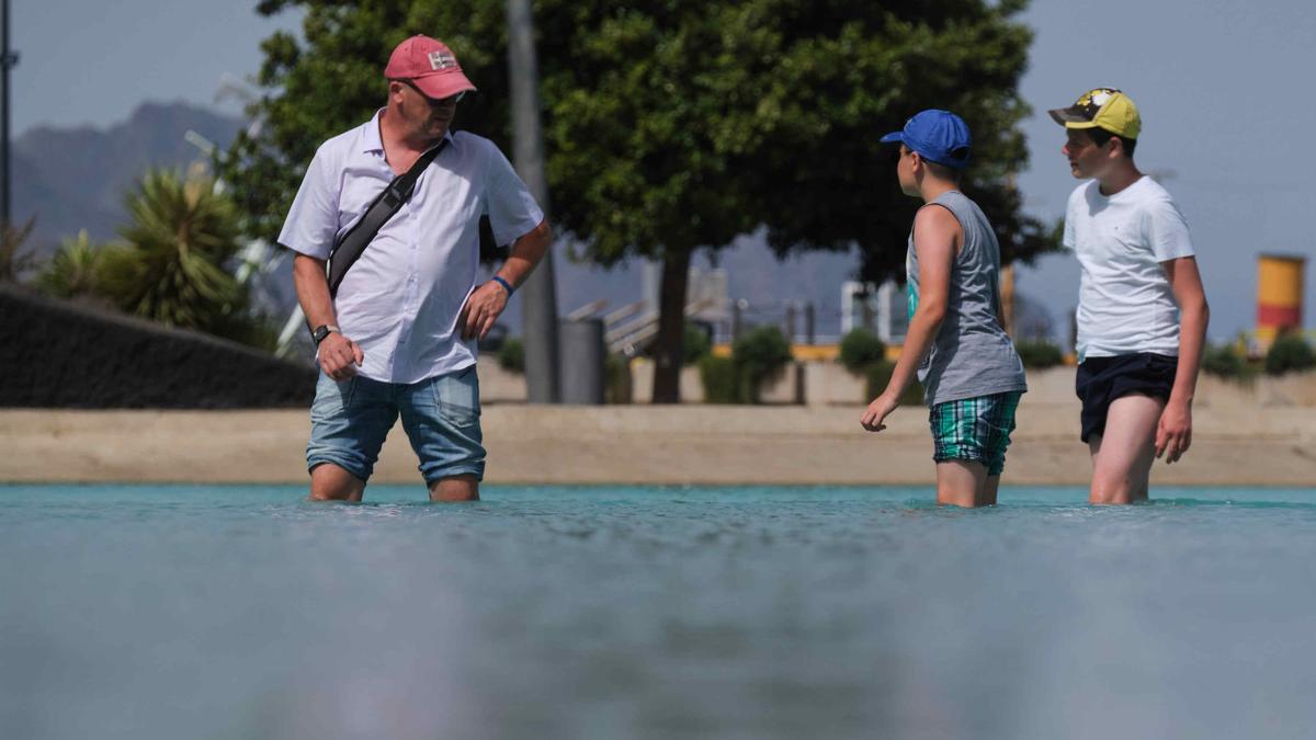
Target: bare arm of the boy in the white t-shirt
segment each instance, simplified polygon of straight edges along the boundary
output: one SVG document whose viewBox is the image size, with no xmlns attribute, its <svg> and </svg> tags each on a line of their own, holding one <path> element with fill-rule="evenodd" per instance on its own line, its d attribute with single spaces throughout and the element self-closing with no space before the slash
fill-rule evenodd
<svg viewBox="0 0 1316 740">
<path fill-rule="evenodd" d="M 1198 370 L 1202 367 L 1202 348 L 1207 341 L 1207 323 L 1211 307 L 1202 287 L 1198 261 L 1180 257 L 1162 262 L 1174 300 L 1179 304 L 1179 366 L 1174 373 L 1170 400 L 1161 412 L 1155 431 L 1155 454 L 1166 454 L 1166 462 L 1177 462 L 1192 444 L 1192 399 L 1198 392 Z"/>
</svg>

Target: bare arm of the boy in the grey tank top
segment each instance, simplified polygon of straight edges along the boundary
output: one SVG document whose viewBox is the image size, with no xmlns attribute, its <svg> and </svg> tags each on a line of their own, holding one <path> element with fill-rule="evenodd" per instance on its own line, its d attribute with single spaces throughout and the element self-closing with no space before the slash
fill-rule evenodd
<svg viewBox="0 0 1316 740">
<path fill-rule="evenodd" d="M 900 359 L 891 371 L 887 390 L 863 412 L 859 423 L 870 432 L 886 428 L 883 420 L 900 404 L 900 394 L 913 381 L 919 365 L 946 317 L 950 295 L 950 271 L 959 238 L 959 221 L 941 207 L 923 208 L 913 220 L 913 249 L 919 254 L 919 307 L 909 319 Z"/>
</svg>

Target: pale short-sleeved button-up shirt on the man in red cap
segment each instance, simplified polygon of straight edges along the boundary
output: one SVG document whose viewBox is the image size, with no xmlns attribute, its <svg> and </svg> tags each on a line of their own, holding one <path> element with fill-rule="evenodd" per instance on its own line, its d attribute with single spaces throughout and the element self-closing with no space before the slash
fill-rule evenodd
<svg viewBox="0 0 1316 740">
<path fill-rule="evenodd" d="M 416 383 L 475 363 L 458 313 L 475 290 L 479 219 L 497 244 L 534 230 L 544 212 L 497 146 L 466 132 L 416 182 L 411 200 L 390 219 L 347 270 L 334 299 L 343 336 L 361 345 L 358 373 L 372 381 Z M 301 180 L 279 244 L 328 259 L 334 241 L 393 179 L 370 122 L 320 145 Z"/>
</svg>

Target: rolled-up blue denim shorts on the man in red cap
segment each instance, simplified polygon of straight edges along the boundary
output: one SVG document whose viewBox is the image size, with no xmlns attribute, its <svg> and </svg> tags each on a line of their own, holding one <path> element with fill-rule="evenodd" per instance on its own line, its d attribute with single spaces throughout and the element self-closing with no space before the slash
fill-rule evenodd
<svg viewBox="0 0 1316 740">
<path fill-rule="evenodd" d="M 484 478 L 480 384 L 474 365 L 418 383 L 384 383 L 361 375 L 334 381 L 321 371 L 311 406 L 307 469 L 332 462 L 368 481 L 399 415 L 426 485 L 454 475 Z"/>
</svg>

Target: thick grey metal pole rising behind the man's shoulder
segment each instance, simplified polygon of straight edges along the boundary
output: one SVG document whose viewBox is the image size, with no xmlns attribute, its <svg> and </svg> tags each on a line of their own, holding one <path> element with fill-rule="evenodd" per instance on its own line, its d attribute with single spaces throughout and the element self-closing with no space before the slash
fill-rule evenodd
<svg viewBox="0 0 1316 740">
<path fill-rule="evenodd" d="M 534 55 L 530 0 L 507 0 L 507 66 L 512 92 L 512 138 L 516 171 L 530 195 L 549 213 L 549 184 L 544 176 L 544 132 L 540 126 L 540 72 Z M 558 296 L 550 249 L 521 286 L 525 330 L 525 383 L 530 403 L 562 399 L 558 352 Z"/>
</svg>

